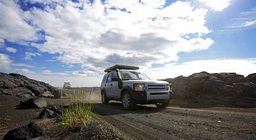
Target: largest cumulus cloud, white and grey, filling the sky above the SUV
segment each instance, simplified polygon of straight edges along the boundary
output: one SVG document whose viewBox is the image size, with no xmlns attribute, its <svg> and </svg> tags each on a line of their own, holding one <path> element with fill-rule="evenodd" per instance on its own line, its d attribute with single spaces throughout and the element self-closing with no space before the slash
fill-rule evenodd
<svg viewBox="0 0 256 140">
<path fill-rule="evenodd" d="M 44 43 L 32 42 L 31 46 L 59 54 L 57 60 L 62 63 L 79 63 L 83 71 L 114 63 L 151 67 L 152 63 L 177 60 L 180 51 L 203 50 L 214 43 L 201 37 L 211 32 L 204 25 L 207 10 L 189 2 L 177 1 L 167 7 L 163 7 L 163 0 L 38 2 L 45 8 L 24 12 L 11 5 L 20 19 L 29 21 L 33 35 L 38 37 L 36 30 L 46 34 Z M 194 37 L 183 37 L 188 34 Z M 35 55 L 28 54 L 24 59 L 31 56 Z"/>
</svg>

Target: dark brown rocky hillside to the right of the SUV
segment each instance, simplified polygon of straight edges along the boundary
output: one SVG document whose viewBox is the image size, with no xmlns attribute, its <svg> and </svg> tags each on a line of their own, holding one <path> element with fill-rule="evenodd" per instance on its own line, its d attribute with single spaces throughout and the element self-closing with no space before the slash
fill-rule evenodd
<svg viewBox="0 0 256 140">
<path fill-rule="evenodd" d="M 256 107 L 256 73 L 244 77 L 236 73 L 194 73 L 168 78 L 173 99 L 204 105 Z"/>
</svg>

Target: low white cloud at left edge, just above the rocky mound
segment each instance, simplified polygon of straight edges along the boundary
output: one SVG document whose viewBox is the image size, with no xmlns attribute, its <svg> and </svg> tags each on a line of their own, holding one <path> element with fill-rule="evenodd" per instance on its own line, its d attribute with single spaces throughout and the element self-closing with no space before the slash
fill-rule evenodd
<svg viewBox="0 0 256 140">
<path fill-rule="evenodd" d="M 16 68 L 16 67 L 32 67 L 31 65 L 27 64 L 15 64 L 6 54 L 0 53 L 0 71 L 6 73 L 20 73 L 20 74 L 33 74 L 33 71 L 25 68 Z"/>
</svg>

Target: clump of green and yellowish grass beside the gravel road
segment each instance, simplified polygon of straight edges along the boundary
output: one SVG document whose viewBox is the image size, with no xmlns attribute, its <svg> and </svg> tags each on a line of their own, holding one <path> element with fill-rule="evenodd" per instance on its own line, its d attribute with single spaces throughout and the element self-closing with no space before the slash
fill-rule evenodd
<svg viewBox="0 0 256 140">
<path fill-rule="evenodd" d="M 85 90 L 80 90 L 77 87 L 76 93 L 71 94 L 71 99 L 76 99 L 67 108 L 62 108 L 60 119 L 61 130 L 68 131 L 74 128 L 86 127 L 89 120 L 92 118 L 93 105 L 91 103 L 85 104 Z M 92 93 L 92 91 L 91 91 Z"/>
</svg>

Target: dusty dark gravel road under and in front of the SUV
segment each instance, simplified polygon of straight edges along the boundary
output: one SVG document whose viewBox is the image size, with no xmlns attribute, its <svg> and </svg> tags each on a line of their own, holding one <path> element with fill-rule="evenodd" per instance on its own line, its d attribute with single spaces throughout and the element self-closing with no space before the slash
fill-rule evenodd
<svg viewBox="0 0 256 140">
<path fill-rule="evenodd" d="M 97 116 L 128 139 L 256 139 L 256 108 L 150 104 L 127 111 L 120 102 L 103 105 L 92 98 Z"/>
</svg>

